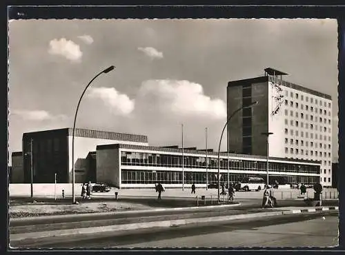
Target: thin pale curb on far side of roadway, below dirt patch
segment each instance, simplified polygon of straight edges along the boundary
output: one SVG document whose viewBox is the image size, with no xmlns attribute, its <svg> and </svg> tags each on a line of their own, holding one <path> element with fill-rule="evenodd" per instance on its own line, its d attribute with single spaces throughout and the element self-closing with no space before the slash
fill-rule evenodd
<svg viewBox="0 0 345 255">
<path fill-rule="evenodd" d="M 150 212 L 175 212 L 175 211 L 189 211 L 189 210 L 208 210 L 213 208 L 224 208 L 224 207 L 235 207 L 239 206 L 241 203 L 235 203 L 231 205 L 207 205 L 207 206 L 194 206 L 194 207 L 176 207 L 176 208 L 158 208 L 152 210 L 128 210 L 120 212 L 93 212 L 86 214 L 63 214 L 63 215 L 52 215 L 52 216 L 33 216 L 33 217 L 23 217 L 23 218 L 10 218 L 10 223 L 21 222 L 21 221 L 43 221 L 45 218 L 58 219 L 58 218 L 83 218 L 90 216 L 108 216 L 117 214 L 146 214 Z"/>
</svg>

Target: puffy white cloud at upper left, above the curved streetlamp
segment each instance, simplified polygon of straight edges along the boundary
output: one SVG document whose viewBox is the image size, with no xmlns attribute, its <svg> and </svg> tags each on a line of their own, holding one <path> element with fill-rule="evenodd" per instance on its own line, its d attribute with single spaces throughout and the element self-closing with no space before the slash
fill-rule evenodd
<svg viewBox="0 0 345 255">
<path fill-rule="evenodd" d="M 61 55 L 70 61 L 80 61 L 83 52 L 77 43 L 61 38 L 52 39 L 49 43 L 48 52 L 52 55 Z"/>
</svg>

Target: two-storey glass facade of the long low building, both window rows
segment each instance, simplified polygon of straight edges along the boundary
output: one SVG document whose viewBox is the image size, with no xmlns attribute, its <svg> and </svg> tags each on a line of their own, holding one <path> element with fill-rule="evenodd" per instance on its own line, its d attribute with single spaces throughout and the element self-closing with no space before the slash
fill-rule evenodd
<svg viewBox="0 0 345 255">
<path fill-rule="evenodd" d="M 217 158 L 208 158 L 208 169 L 217 169 Z M 243 173 L 230 173 L 229 181 L 239 181 L 244 176 L 266 176 L 266 161 L 255 160 L 235 160 L 229 159 L 229 170 L 240 170 Z M 228 160 L 220 159 L 220 169 L 228 169 Z M 157 183 L 166 184 L 182 183 L 182 172 L 170 170 L 155 170 L 154 167 L 182 167 L 182 156 L 172 154 L 153 154 L 147 152 L 121 152 L 121 165 L 133 165 L 152 167 L 152 170 L 121 170 L 122 183 Z M 193 171 L 197 168 L 201 172 Z M 306 176 L 304 174 L 319 174 L 318 165 L 304 165 L 298 163 L 269 163 L 270 171 L 283 173 L 298 173 L 299 175 L 272 175 L 270 182 L 277 180 L 281 184 L 285 183 L 316 183 L 319 176 Z M 204 171 L 203 171 L 204 169 Z M 208 183 L 217 182 L 217 174 L 208 172 Z M 259 171 L 259 174 L 248 174 L 247 171 Z M 206 184 L 206 157 L 205 156 L 184 156 L 184 180 L 186 184 Z M 220 181 L 228 181 L 228 174 L 221 173 Z"/>
</svg>

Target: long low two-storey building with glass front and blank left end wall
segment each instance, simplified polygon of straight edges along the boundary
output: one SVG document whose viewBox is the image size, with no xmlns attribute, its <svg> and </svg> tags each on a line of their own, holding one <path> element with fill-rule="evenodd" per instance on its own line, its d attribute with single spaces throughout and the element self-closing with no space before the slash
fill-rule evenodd
<svg viewBox="0 0 345 255">
<path fill-rule="evenodd" d="M 206 173 L 208 183 L 217 183 L 217 156 L 217 152 L 210 150 L 206 158 L 206 150 L 184 149 L 182 154 L 182 149 L 177 147 L 98 145 L 97 181 L 119 188 L 153 187 L 157 182 L 165 187 L 181 187 L 184 173 L 186 187 L 192 183 L 206 187 Z M 319 181 L 318 161 L 270 157 L 269 167 L 270 182 L 313 184 Z M 244 176 L 266 176 L 266 156 L 221 152 L 221 182 L 228 181 L 228 172 L 232 182 Z"/>
</svg>

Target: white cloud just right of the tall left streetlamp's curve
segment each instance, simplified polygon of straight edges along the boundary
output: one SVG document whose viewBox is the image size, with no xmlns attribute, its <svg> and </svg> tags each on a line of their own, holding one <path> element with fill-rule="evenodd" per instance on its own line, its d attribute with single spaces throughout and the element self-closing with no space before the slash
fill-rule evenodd
<svg viewBox="0 0 345 255">
<path fill-rule="evenodd" d="M 101 99 L 113 114 L 127 115 L 135 107 L 135 100 L 130 100 L 126 94 L 120 94 L 115 88 L 91 88 L 88 97 Z"/>
</svg>

